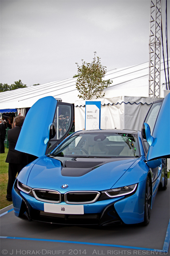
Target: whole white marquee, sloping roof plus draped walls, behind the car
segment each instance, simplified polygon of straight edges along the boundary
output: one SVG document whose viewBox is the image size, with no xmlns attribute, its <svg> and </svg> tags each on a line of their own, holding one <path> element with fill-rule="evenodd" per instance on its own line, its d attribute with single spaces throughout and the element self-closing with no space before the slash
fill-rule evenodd
<svg viewBox="0 0 170 256">
<path fill-rule="evenodd" d="M 169 59 L 170 60 L 170 59 Z M 101 129 L 140 130 L 143 119 L 157 98 L 148 97 L 149 63 L 107 71 L 105 79 L 112 84 L 104 90 L 101 99 Z M 160 66 L 160 97 L 170 91 L 166 88 L 164 63 Z M 0 113 L 18 112 L 25 115 L 38 99 L 53 96 L 63 102 L 74 103 L 75 130 L 85 128 L 85 101 L 80 100 L 75 83 L 77 78 L 20 88 L 0 93 Z M 94 100 L 94 99 L 93 99 Z"/>
</svg>

